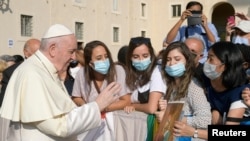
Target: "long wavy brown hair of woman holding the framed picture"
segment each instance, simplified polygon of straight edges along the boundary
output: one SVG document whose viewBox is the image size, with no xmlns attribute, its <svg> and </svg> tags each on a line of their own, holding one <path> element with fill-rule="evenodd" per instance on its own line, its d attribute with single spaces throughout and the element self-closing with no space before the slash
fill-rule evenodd
<svg viewBox="0 0 250 141">
<path fill-rule="evenodd" d="M 194 74 L 194 54 L 189 50 L 187 45 L 181 41 L 176 41 L 168 45 L 168 47 L 163 51 L 162 53 L 162 64 L 161 64 L 161 73 L 164 78 L 164 81 L 167 83 L 167 92 L 166 92 L 166 99 L 169 100 L 171 93 L 174 91 L 173 86 L 175 85 L 175 78 L 168 75 L 165 72 L 165 67 L 167 63 L 167 57 L 170 51 L 177 49 L 179 50 L 183 56 L 186 59 L 186 71 L 185 73 L 179 78 L 180 84 L 175 89 L 178 95 L 174 98 L 175 100 L 178 100 L 180 98 L 183 98 L 186 96 L 188 91 L 188 86 L 193 78 Z"/>
</svg>

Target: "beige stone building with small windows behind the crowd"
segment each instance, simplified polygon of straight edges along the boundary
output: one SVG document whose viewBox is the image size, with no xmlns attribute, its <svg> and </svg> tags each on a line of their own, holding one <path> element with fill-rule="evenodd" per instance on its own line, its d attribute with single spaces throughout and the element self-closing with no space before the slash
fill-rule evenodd
<svg viewBox="0 0 250 141">
<path fill-rule="evenodd" d="M 227 17 L 250 15 L 249 0 L 197 0 L 224 38 Z M 75 32 L 79 45 L 105 42 L 113 53 L 131 37 L 150 37 L 155 51 L 180 18 L 189 0 L 0 0 L 0 55 L 23 54 L 24 42 L 41 38 L 51 24 Z M 238 20 L 238 19 L 237 19 Z"/>
</svg>

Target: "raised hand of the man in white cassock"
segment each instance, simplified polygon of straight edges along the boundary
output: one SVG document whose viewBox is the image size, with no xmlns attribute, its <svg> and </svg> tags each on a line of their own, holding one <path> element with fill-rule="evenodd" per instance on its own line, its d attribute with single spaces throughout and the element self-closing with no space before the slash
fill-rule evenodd
<svg viewBox="0 0 250 141">
<path fill-rule="evenodd" d="M 120 90 L 120 84 L 112 82 L 97 96 L 96 103 L 98 104 L 100 111 L 103 111 L 103 109 L 119 98 L 117 93 Z"/>
</svg>

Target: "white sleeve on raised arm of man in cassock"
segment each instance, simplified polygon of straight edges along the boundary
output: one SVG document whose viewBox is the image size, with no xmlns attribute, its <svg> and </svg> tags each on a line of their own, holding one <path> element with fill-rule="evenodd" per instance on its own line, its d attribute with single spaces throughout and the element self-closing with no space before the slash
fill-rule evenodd
<svg viewBox="0 0 250 141">
<path fill-rule="evenodd" d="M 68 137 L 81 134 L 101 124 L 101 115 L 96 102 L 72 109 L 65 115 L 39 122 L 36 126 L 45 134 Z"/>
</svg>

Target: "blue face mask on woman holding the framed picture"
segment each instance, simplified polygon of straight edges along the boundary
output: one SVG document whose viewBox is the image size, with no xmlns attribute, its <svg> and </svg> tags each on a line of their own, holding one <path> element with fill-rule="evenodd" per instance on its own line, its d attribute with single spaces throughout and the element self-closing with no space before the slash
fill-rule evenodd
<svg viewBox="0 0 250 141">
<path fill-rule="evenodd" d="M 172 66 L 166 65 L 165 67 L 166 73 L 172 77 L 181 77 L 184 74 L 185 70 L 185 65 L 182 62 L 174 64 Z"/>
</svg>

